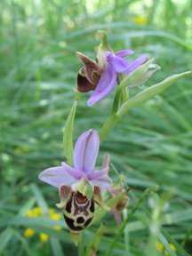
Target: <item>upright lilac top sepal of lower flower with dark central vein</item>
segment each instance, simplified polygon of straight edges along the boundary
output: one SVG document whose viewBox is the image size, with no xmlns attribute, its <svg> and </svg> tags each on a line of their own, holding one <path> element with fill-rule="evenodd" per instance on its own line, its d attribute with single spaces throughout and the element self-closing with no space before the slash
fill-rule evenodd
<svg viewBox="0 0 192 256">
<path fill-rule="evenodd" d="M 100 137 L 95 130 L 84 132 L 76 141 L 73 162 L 76 170 L 92 172 L 100 147 Z"/>
</svg>

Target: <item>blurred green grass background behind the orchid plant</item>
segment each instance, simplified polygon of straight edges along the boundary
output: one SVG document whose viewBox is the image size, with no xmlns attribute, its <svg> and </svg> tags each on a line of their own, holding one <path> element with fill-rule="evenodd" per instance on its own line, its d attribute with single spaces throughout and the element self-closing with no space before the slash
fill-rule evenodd
<svg viewBox="0 0 192 256">
<path fill-rule="evenodd" d="M 46 214 L 47 207 L 58 203 L 57 189 L 37 179 L 39 172 L 65 160 L 62 130 L 81 67 L 75 52 L 94 59 L 97 30 L 105 29 L 115 51 L 132 49 L 134 58 L 141 53 L 156 57 L 162 70 L 146 86 L 189 70 L 192 1 L 1 0 L 0 12 L 0 255 L 85 255 L 100 223 L 84 232 L 86 242 L 76 249 L 64 221 Z M 131 93 L 136 92 L 140 89 Z M 133 108 L 100 146 L 98 166 L 109 152 L 126 185 L 136 186 L 128 212 L 145 188 L 160 186 L 158 199 L 152 196 L 140 204 L 110 255 L 192 253 L 191 94 L 191 76 L 182 78 Z M 100 129 L 111 108 L 113 94 L 92 108 L 86 107 L 88 97 L 82 95 L 78 103 L 75 139 L 84 130 Z M 111 175 L 116 180 L 112 169 Z M 41 209 L 31 213 L 37 206 Z M 28 218 L 30 213 L 36 218 Z M 62 230 L 52 229 L 54 220 Z M 116 235 L 111 213 L 105 221 L 97 255 L 108 253 Z M 158 230 L 156 236 L 164 238 L 160 244 L 153 241 L 151 223 L 164 225 L 168 234 Z M 36 233 L 28 229 L 26 235 L 26 228 Z M 169 244 L 180 248 L 167 252 Z"/>
</svg>

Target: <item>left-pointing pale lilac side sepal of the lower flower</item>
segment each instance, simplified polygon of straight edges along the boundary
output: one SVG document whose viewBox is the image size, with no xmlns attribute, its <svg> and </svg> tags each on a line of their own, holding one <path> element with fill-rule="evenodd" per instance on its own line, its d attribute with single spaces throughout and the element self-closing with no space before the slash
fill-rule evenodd
<svg viewBox="0 0 192 256">
<path fill-rule="evenodd" d="M 63 166 L 46 169 L 39 174 L 38 178 L 56 188 L 60 188 L 62 185 L 71 185 L 76 182 L 76 180 L 65 171 Z"/>
</svg>

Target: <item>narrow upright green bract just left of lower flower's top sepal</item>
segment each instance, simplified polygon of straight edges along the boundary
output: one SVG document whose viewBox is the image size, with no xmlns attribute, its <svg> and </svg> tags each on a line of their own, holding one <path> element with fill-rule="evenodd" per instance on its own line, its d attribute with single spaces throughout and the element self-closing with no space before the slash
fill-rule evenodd
<svg viewBox="0 0 192 256">
<path fill-rule="evenodd" d="M 77 100 L 75 100 L 71 108 L 71 111 L 68 115 L 68 119 L 66 121 L 64 132 L 63 132 L 64 153 L 67 158 L 68 164 L 71 166 L 73 164 L 73 126 L 74 126 L 74 119 L 76 115 L 76 106 L 77 106 Z"/>
</svg>

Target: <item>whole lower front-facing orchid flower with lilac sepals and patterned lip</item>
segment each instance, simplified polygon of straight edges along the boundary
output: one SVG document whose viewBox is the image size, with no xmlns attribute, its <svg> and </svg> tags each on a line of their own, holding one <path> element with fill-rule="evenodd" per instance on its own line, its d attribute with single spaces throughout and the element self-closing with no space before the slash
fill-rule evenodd
<svg viewBox="0 0 192 256">
<path fill-rule="evenodd" d="M 64 217 L 72 233 L 79 233 L 92 221 L 94 203 L 109 210 L 101 197 L 101 191 L 111 188 L 109 166 L 94 171 L 100 147 L 100 137 L 95 130 L 84 132 L 76 141 L 74 167 L 62 163 L 39 174 L 39 179 L 59 188 L 60 203 Z"/>
</svg>

